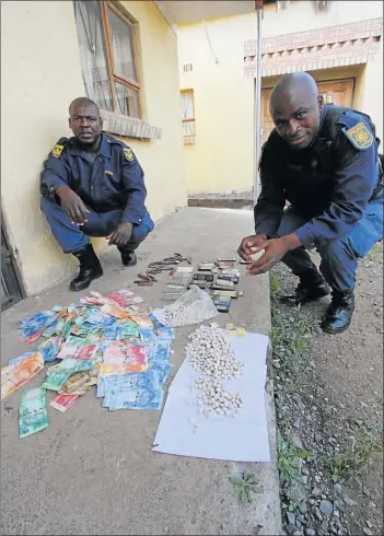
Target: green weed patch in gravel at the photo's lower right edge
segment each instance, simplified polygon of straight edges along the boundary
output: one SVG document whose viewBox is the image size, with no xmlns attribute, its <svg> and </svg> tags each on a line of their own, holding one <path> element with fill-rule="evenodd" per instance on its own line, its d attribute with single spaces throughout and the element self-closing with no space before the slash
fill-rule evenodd
<svg viewBox="0 0 384 536">
<path fill-rule="evenodd" d="M 368 429 L 358 429 L 351 436 L 351 445 L 335 457 L 327 458 L 325 466 L 334 482 L 356 481 L 361 487 L 361 477 L 370 470 L 375 454 L 382 452 L 383 443 L 376 433 Z"/>
</svg>

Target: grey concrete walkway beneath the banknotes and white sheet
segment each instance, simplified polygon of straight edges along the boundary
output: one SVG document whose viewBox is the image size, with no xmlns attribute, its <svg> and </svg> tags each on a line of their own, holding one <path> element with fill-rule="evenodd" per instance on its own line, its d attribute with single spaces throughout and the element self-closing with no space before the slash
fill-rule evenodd
<svg viewBox="0 0 384 536">
<path fill-rule="evenodd" d="M 185 209 L 167 217 L 139 249 L 139 266 L 120 269 L 114 248 L 102 259 L 105 276 L 93 290 L 109 293 L 132 283 L 148 263 L 174 252 L 193 264 L 234 254 L 253 232 L 251 211 Z M 244 269 L 243 269 L 244 271 Z M 161 305 L 165 275 L 152 288 L 131 288 L 150 305 Z M 268 277 L 243 277 L 244 296 L 230 315 L 218 316 L 249 331 L 269 335 Z M 2 366 L 30 347 L 18 341 L 18 322 L 74 299 L 68 281 L 2 314 Z M 82 292 L 82 294 L 86 294 Z M 177 328 L 173 375 L 184 359 L 186 337 Z M 42 375 L 42 373 L 40 373 Z M 28 388 L 40 385 L 37 376 Z M 172 380 L 172 378 L 171 378 Z M 48 401 L 51 398 L 48 393 Z M 238 464 L 151 452 L 159 411 L 114 411 L 101 407 L 94 391 L 66 413 L 48 409 L 49 428 L 19 440 L 21 393 L 1 404 L 1 534 L 86 535 L 278 535 L 281 534 L 272 400 L 266 396 L 271 464 Z M 261 492 L 240 504 L 230 476 L 254 473 Z M 260 527 L 261 526 L 261 527 Z"/>
</svg>

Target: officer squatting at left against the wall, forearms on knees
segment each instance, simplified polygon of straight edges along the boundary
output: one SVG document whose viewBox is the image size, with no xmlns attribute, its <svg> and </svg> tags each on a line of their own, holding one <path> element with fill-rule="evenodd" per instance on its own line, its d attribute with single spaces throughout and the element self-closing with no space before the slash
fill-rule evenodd
<svg viewBox="0 0 384 536">
<path fill-rule="evenodd" d="M 79 291 L 103 275 L 90 236 L 107 236 L 124 266 L 135 266 L 135 249 L 154 225 L 142 168 L 127 145 L 102 132 L 97 105 L 75 98 L 69 115 L 74 137 L 61 138 L 44 163 L 40 206 L 63 253 L 80 263 L 70 283 Z"/>
</svg>

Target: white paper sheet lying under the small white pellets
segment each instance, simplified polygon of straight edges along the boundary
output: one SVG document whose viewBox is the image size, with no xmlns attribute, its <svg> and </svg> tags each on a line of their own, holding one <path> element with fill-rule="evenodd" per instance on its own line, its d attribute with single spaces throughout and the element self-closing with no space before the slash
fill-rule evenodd
<svg viewBox="0 0 384 536">
<path fill-rule="evenodd" d="M 246 334 L 231 338 L 244 372 L 222 381 L 240 393 L 244 408 L 232 417 L 199 413 L 199 391 L 190 389 L 201 373 L 185 360 L 168 389 L 166 404 L 153 441 L 155 452 L 233 462 L 270 462 L 265 411 L 266 356 L 268 337 Z M 194 424 L 199 424 L 196 429 Z"/>
</svg>

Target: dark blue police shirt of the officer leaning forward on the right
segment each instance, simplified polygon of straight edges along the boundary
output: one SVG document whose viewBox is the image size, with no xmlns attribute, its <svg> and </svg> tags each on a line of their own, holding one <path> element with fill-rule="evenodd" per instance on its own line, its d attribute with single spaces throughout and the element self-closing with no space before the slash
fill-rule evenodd
<svg viewBox="0 0 384 536">
<path fill-rule="evenodd" d="M 371 118 L 326 105 L 311 145 L 293 150 L 274 129 L 264 144 L 255 231 L 276 236 L 286 201 L 306 220 L 294 234 L 307 248 L 346 235 L 379 182 L 379 139 Z"/>
</svg>

